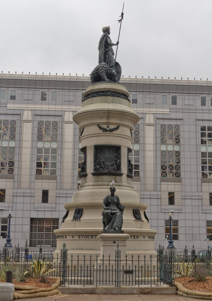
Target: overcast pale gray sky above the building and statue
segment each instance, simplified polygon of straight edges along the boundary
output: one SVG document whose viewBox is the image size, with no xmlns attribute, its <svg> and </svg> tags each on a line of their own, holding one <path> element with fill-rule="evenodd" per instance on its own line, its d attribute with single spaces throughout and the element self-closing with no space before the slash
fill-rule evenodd
<svg viewBox="0 0 212 301">
<path fill-rule="evenodd" d="M 0 72 L 89 76 L 102 27 L 118 39 L 123 0 L 0 0 Z M 211 0 L 125 0 L 124 77 L 212 80 Z M 116 46 L 114 46 L 114 51 Z"/>
</svg>

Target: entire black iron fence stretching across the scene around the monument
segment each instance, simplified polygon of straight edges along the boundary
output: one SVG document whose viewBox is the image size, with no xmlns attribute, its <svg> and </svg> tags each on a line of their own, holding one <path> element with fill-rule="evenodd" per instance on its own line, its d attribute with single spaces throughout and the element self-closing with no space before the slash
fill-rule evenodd
<svg viewBox="0 0 212 301">
<path fill-rule="evenodd" d="M 192 268 L 192 273 L 198 270 L 212 273 L 211 248 L 199 253 L 194 247 L 188 252 L 187 247 L 183 253 L 175 253 L 172 249 L 166 253 L 159 245 L 156 254 L 147 256 L 121 256 L 121 250 L 117 245 L 112 256 L 99 257 L 79 256 L 68 254 L 66 245 L 63 245 L 60 254 L 43 252 L 29 252 L 26 246 L 25 252 L 20 252 L 19 246 L 10 252 L 7 248 L 0 251 L 0 269 L 10 267 L 11 264 L 22 272 L 30 269 L 33 259 L 50 262 L 53 271 L 51 277 L 59 277 L 61 286 L 66 285 L 94 285 L 94 286 L 157 286 L 168 284 L 173 286 L 175 277 L 180 276 L 176 271 L 184 272 L 184 268 Z M 192 274 L 191 273 L 191 274 Z"/>
</svg>

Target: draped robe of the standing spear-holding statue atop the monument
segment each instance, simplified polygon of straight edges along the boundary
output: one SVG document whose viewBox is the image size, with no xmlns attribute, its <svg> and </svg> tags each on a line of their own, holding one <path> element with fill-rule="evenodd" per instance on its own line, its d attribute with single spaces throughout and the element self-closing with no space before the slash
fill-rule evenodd
<svg viewBox="0 0 212 301">
<path fill-rule="evenodd" d="M 108 44 L 108 41 L 112 42 L 107 33 L 103 33 L 99 41 L 99 64 L 106 63 L 108 66 L 114 66 L 114 51 L 112 45 Z"/>
</svg>

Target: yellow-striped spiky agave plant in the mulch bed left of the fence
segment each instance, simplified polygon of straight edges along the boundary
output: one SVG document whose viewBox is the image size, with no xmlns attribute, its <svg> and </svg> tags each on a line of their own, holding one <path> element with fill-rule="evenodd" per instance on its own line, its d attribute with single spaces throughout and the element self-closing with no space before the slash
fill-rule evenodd
<svg viewBox="0 0 212 301">
<path fill-rule="evenodd" d="M 47 283 L 47 277 L 48 277 L 47 274 L 56 270 L 55 268 L 51 269 L 52 264 L 50 262 L 46 262 L 46 259 L 42 261 L 33 258 L 32 265 L 31 265 L 31 273 L 27 271 L 25 272 L 25 274 L 29 274 L 31 277 L 37 278 L 40 282 Z"/>
</svg>

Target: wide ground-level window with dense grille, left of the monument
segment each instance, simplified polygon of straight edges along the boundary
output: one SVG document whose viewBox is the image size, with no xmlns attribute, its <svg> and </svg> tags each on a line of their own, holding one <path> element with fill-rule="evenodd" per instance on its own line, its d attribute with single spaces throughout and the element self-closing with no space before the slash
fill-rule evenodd
<svg viewBox="0 0 212 301">
<path fill-rule="evenodd" d="M 59 219 L 36 219 L 30 221 L 30 247 L 56 247 L 54 230 L 58 229 Z"/>
</svg>

